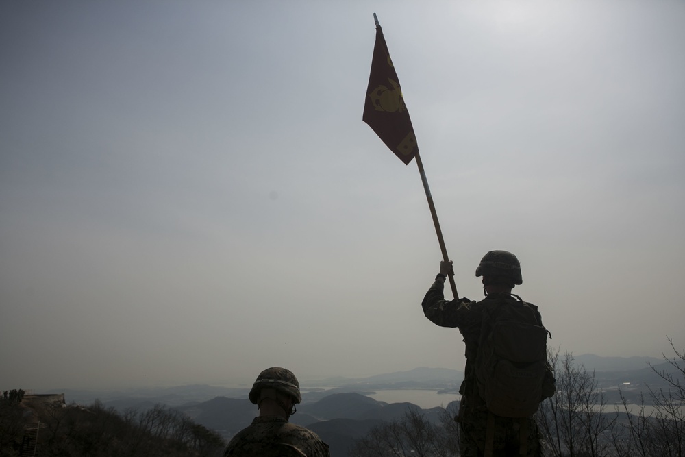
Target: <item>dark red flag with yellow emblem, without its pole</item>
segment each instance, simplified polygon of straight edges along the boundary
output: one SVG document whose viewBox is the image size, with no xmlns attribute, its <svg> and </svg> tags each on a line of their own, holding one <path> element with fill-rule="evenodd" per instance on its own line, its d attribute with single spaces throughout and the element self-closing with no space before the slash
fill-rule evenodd
<svg viewBox="0 0 685 457">
<path fill-rule="evenodd" d="M 375 14 L 374 14 L 375 16 Z M 362 120 L 383 140 L 402 162 L 409 164 L 419 146 L 414 127 L 404 104 L 399 79 L 390 60 L 381 25 L 376 21 L 376 42 L 371 59 L 369 86 L 366 88 Z"/>
</svg>

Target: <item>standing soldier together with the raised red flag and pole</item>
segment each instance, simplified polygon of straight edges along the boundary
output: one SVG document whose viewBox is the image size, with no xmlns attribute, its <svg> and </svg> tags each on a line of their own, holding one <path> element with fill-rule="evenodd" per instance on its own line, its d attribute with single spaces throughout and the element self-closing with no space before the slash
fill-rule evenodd
<svg viewBox="0 0 685 457">
<path fill-rule="evenodd" d="M 547 364 L 549 332 L 537 307 L 511 293 L 522 280 L 519 260 L 510 252 L 490 251 L 479 264 L 476 276 L 483 277 L 484 300 L 459 299 L 414 127 L 383 31 L 373 17 L 376 41 L 362 119 L 402 162 L 416 158 L 419 167 L 443 254 L 440 273 L 423 299 L 423 312 L 436 325 L 458 328 L 466 343 L 458 416 L 461 455 L 540 456 L 533 415 L 555 392 Z M 452 289 L 451 301 L 443 296 L 445 280 Z"/>
</svg>

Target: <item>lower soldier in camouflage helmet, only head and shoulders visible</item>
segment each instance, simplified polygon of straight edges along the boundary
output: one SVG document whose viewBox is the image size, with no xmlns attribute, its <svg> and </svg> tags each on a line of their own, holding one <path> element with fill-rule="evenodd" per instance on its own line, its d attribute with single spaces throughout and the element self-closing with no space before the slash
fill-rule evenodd
<svg viewBox="0 0 685 457">
<path fill-rule="evenodd" d="M 302 401 L 299 382 L 292 371 L 268 368 L 257 377 L 249 393 L 260 415 L 249 427 L 233 437 L 225 456 L 330 457 L 328 445 L 316 433 L 288 422 L 295 414 L 295 404 Z"/>
</svg>

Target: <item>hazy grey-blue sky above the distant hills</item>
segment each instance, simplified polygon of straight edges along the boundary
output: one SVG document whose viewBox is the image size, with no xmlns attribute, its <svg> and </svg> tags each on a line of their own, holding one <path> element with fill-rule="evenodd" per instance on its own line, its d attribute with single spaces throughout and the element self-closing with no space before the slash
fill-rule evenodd
<svg viewBox="0 0 685 457">
<path fill-rule="evenodd" d="M 3 1 L 0 388 L 463 368 L 374 12 L 460 295 L 507 249 L 551 346 L 685 346 L 683 1 Z"/>
</svg>

